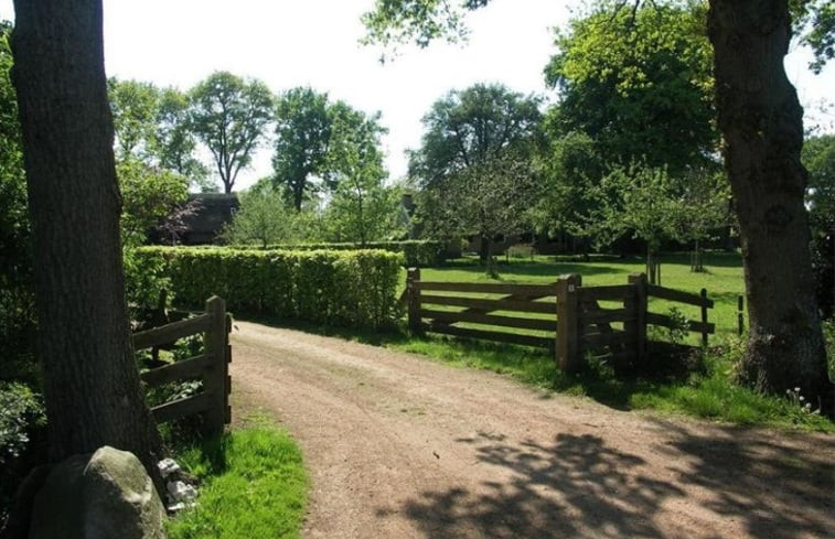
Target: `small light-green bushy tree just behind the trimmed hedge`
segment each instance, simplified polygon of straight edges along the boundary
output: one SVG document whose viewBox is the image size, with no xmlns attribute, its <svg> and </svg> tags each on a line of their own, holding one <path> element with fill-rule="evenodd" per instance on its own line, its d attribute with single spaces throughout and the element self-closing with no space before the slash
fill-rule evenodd
<svg viewBox="0 0 835 539">
<path fill-rule="evenodd" d="M 240 194 L 240 207 L 223 231 L 229 244 L 259 244 L 266 248 L 291 238 L 293 212 L 280 193 L 267 190 L 250 190 Z"/>
</svg>

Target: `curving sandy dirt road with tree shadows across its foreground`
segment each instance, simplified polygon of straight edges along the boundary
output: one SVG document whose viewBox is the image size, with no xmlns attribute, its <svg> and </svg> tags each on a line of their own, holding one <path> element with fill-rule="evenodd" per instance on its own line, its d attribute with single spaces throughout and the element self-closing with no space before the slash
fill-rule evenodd
<svg viewBox="0 0 835 539">
<path fill-rule="evenodd" d="M 613 410 L 236 323 L 233 387 L 299 441 L 313 538 L 833 538 L 835 436 Z"/>
</svg>

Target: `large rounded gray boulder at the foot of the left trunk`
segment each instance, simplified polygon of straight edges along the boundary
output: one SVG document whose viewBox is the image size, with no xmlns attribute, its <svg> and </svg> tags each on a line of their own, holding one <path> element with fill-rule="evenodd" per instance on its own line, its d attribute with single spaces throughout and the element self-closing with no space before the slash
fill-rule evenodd
<svg viewBox="0 0 835 539">
<path fill-rule="evenodd" d="M 30 539 L 163 539 L 165 510 L 132 453 L 101 448 L 55 466 L 35 496 Z"/>
</svg>

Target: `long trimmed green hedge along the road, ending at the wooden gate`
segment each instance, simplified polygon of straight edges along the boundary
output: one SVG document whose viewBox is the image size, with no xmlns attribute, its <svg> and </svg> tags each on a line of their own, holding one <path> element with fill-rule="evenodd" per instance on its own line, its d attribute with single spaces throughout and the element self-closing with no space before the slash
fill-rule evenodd
<svg viewBox="0 0 835 539">
<path fill-rule="evenodd" d="M 142 247 L 137 257 L 164 268 L 184 306 L 216 294 L 233 312 L 364 328 L 397 315 L 403 257 L 395 252 Z"/>
</svg>

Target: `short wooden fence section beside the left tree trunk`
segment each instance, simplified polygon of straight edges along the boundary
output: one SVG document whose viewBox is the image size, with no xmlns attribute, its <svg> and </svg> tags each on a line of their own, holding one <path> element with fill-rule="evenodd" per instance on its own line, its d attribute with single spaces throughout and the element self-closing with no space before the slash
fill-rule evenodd
<svg viewBox="0 0 835 539">
<path fill-rule="evenodd" d="M 223 433 L 224 425 L 232 420 L 229 330 L 231 319 L 226 314 L 226 304 L 215 295 L 206 301 L 204 314 L 133 334 L 136 351 L 168 345 L 200 333 L 204 335 L 203 354 L 140 375 L 149 388 L 186 379 L 200 379 L 203 382 L 201 392 L 152 408 L 158 423 L 202 413 L 205 435 Z"/>
</svg>

